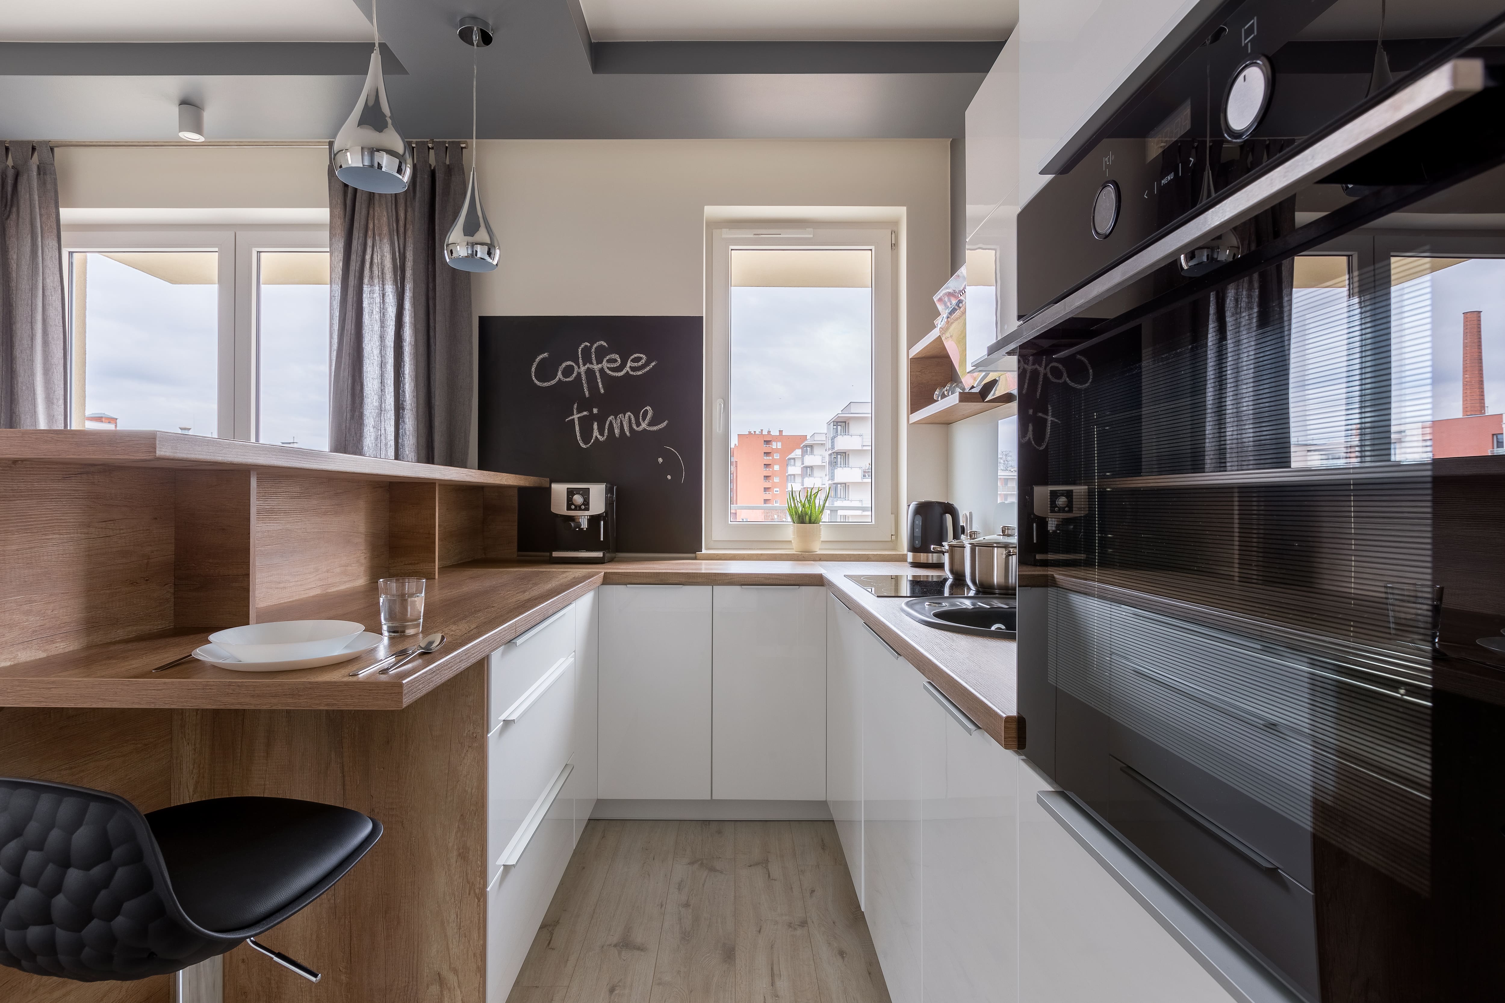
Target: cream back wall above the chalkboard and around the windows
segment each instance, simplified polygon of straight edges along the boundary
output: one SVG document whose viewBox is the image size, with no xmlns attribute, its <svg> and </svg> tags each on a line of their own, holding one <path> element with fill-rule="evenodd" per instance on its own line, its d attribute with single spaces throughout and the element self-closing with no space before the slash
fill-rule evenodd
<svg viewBox="0 0 1505 1003">
<path fill-rule="evenodd" d="M 241 209 L 227 221 L 283 223 L 328 208 L 322 147 L 65 147 L 57 171 L 65 223 L 188 223 L 226 208 Z M 474 278 L 474 308 L 701 316 L 707 208 L 846 208 L 898 230 L 908 346 L 930 331 L 930 295 L 950 277 L 948 171 L 947 140 L 486 140 L 480 185 L 503 253 Z M 900 510 L 947 487 L 945 430 L 905 429 Z"/>
</svg>

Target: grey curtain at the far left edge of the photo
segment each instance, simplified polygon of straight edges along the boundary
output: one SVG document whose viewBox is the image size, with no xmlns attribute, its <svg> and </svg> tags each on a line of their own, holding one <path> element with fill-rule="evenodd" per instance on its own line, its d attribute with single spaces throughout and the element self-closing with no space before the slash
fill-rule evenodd
<svg viewBox="0 0 1505 1003">
<path fill-rule="evenodd" d="M 68 427 L 57 170 L 47 143 L 0 155 L 0 429 Z"/>
</svg>

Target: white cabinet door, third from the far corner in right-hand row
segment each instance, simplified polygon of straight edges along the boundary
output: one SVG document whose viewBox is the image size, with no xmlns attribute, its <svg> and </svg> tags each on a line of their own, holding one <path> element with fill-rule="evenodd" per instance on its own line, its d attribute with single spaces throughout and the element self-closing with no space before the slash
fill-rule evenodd
<svg viewBox="0 0 1505 1003">
<path fill-rule="evenodd" d="M 926 699 L 924 998 L 1014 1003 L 1019 756 L 954 704 Z"/>
</svg>

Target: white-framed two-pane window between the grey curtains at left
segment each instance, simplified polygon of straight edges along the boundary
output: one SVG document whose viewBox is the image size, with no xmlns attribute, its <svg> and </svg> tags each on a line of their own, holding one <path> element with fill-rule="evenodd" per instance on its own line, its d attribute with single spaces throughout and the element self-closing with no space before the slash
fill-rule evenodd
<svg viewBox="0 0 1505 1003">
<path fill-rule="evenodd" d="M 328 448 L 325 227 L 65 227 L 69 426 Z"/>
</svg>

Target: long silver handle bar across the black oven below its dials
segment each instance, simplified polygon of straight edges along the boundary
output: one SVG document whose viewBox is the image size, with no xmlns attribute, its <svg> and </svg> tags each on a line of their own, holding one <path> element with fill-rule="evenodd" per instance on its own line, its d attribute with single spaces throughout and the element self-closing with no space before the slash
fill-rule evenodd
<svg viewBox="0 0 1505 1003">
<path fill-rule="evenodd" d="M 1023 344 L 1041 331 L 1057 326 L 1067 317 L 1106 299 L 1124 286 L 1144 278 L 1181 251 L 1215 233 L 1243 223 L 1308 182 L 1330 174 L 1344 164 L 1356 161 L 1391 138 L 1421 125 L 1427 119 L 1446 111 L 1464 98 L 1484 89 L 1484 60 L 1455 59 L 1443 63 L 1425 77 L 1412 81 L 1388 99 L 1374 105 L 1335 132 L 1326 135 L 1281 164 L 1269 174 L 1255 179 L 1243 189 L 1165 235 L 1133 257 L 1067 293 L 1058 302 L 1044 307 L 998 341 L 987 346 L 987 355 L 972 362 L 972 371 L 996 365 L 1011 349 Z"/>
</svg>

